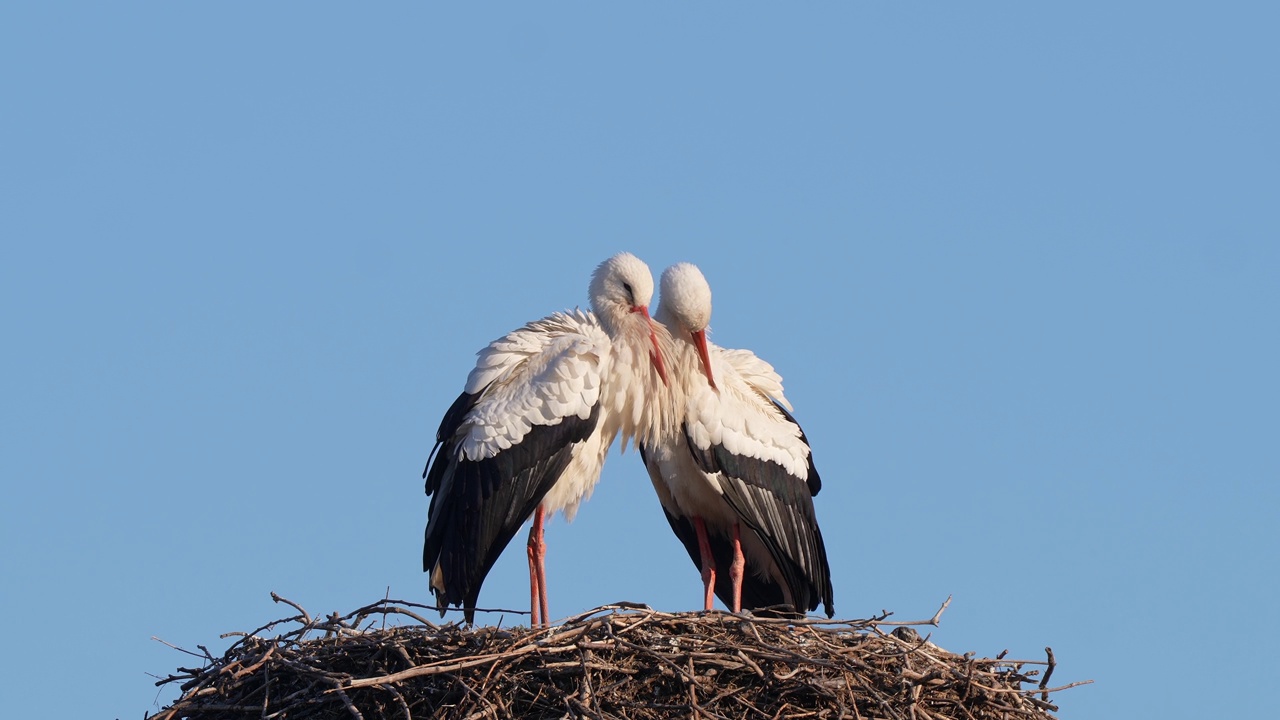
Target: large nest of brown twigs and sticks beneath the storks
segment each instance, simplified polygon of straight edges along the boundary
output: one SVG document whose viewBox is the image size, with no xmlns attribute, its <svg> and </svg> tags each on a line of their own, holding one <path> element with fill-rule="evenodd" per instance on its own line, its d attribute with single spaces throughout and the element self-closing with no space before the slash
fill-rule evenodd
<svg viewBox="0 0 1280 720">
<path fill-rule="evenodd" d="M 192 653 L 202 667 L 156 683 L 180 683 L 182 697 L 154 720 L 1023 720 L 1052 719 L 1050 693 L 1084 684 L 1050 688 L 1048 648 L 1039 661 L 975 659 L 909 626 L 937 625 L 946 603 L 919 623 L 620 603 L 529 629 L 438 625 L 415 611 L 425 606 L 390 600 L 312 619 L 271 597 L 298 615 L 223 635 L 239 639 L 221 657 Z M 268 637 L 282 625 L 292 629 Z"/>
</svg>

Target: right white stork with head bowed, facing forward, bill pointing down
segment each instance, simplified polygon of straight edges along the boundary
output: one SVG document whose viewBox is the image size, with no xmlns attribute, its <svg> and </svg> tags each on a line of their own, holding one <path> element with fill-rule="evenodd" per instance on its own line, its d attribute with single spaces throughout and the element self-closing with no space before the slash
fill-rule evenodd
<svg viewBox="0 0 1280 720">
<path fill-rule="evenodd" d="M 782 378 L 748 350 L 707 341 L 712 291 L 689 263 L 667 268 L 654 319 L 668 331 L 671 384 L 685 414 L 640 454 L 671 529 L 733 612 L 819 601 L 832 616 L 831 571 L 814 514 L 822 488 Z M 682 389 L 681 389 L 682 388 Z"/>
</svg>

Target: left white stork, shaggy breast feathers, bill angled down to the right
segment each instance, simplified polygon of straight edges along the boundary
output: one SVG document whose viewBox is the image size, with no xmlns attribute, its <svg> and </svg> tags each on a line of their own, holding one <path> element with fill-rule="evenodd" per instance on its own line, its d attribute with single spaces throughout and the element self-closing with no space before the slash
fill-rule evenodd
<svg viewBox="0 0 1280 720">
<path fill-rule="evenodd" d="M 544 518 L 573 519 L 620 433 L 625 448 L 673 421 L 662 419 L 671 395 L 649 266 L 614 255 L 595 269 L 589 296 L 594 313 L 554 313 L 481 350 L 440 421 L 422 471 L 431 496 L 422 570 L 442 615 L 457 605 L 474 621 L 485 575 L 532 515 L 531 625 L 548 623 Z"/>
</svg>

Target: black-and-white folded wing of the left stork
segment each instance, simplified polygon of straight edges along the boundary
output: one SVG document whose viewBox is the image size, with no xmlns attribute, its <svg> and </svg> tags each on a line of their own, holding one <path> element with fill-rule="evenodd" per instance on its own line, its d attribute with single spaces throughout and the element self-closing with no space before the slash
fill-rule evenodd
<svg viewBox="0 0 1280 720">
<path fill-rule="evenodd" d="M 431 496 L 422 569 L 440 607 L 460 605 L 472 620 L 485 575 L 598 432 L 609 342 L 593 315 L 573 311 L 480 351 L 422 473 Z"/>
</svg>

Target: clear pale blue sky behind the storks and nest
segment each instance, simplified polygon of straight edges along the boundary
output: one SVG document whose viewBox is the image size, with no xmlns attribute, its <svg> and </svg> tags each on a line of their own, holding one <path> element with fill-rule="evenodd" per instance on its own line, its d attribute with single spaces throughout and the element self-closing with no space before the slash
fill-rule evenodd
<svg viewBox="0 0 1280 720">
<path fill-rule="evenodd" d="M 628 250 L 812 441 L 841 618 L 1062 717 L 1265 716 L 1280 50 L 1238 3 L 0 5 L 0 678 L 142 717 L 220 633 L 428 602 L 474 354 Z M 517 536 L 481 603 L 527 609 Z M 552 614 L 699 605 L 634 452 Z M 506 624 L 522 618 L 488 616 Z"/>
</svg>

